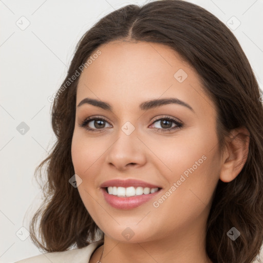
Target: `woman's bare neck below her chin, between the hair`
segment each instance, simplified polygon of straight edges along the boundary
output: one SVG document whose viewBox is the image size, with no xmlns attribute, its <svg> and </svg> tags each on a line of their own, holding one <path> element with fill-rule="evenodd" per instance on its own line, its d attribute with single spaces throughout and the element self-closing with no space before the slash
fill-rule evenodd
<svg viewBox="0 0 263 263">
<path fill-rule="evenodd" d="M 89 262 L 212 263 L 205 251 L 205 235 L 202 234 L 205 233 L 204 228 L 205 225 L 200 224 L 195 224 L 195 229 L 184 226 L 180 231 L 171 232 L 169 236 L 133 243 L 104 235 L 104 246 L 96 251 Z"/>
</svg>

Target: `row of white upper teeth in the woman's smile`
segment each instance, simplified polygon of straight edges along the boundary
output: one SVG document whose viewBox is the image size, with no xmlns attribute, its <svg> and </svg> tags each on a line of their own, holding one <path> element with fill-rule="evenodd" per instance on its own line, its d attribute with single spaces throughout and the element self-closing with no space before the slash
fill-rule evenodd
<svg viewBox="0 0 263 263">
<path fill-rule="evenodd" d="M 158 187 L 156 188 L 149 188 L 149 187 L 116 187 L 116 186 L 109 186 L 107 187 L 108 193 L 110 195 L 116 195 L 116 196 L 136 196 L 136 195 L 147 195 L 149 193 L 155 193 L 158 191 Z"/>
</svg>

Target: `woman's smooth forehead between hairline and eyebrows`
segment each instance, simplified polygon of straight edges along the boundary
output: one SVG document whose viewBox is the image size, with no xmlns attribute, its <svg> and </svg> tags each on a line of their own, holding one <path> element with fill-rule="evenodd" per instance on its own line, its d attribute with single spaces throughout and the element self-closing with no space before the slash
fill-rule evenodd
<svg viewBox="0 0 263 263">
<path fill-rule="evenodd" d="M 200 113 L 213 106 L 197 72 L 166 45 L 115 41 L 98 50 L 101 54 L 80 76 L 77 104 L 89 97 L 137 107 L 145 100 L 174 97 Z"/>
</svg>

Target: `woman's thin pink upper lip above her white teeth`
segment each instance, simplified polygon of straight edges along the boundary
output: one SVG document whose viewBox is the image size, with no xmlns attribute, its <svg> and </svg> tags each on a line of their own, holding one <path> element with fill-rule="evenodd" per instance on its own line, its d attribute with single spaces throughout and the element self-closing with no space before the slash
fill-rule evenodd
<svg viewBox="0 0 263 263">
<path fill-rule="evenodd" d="M 117 186 L 117 187 L 129 187 L 129 186 L 135 186 L 135 187 L 149 187 L 149 188 L 161 188 L 158 185 L 152 184 L 152 183 L 147 183 L 141 180 L 137 179 L 113 179 L 113 180 L 108 180 L 103 182 L 100 187 L 108 187 L 108 186 Z"/>
</svg>

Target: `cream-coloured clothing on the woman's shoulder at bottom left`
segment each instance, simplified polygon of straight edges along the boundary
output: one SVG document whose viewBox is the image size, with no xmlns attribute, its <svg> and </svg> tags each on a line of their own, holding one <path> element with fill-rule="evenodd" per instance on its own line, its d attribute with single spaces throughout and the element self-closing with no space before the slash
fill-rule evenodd
<svg viewBox="0 0 263 263">
<path fill-rule="evenodd" d="M 103 245 L 103 240 L 93 242 L 81 249 L 43 253 L 14 263 L 87 263 L 91 254 L 101 245 Z"/>
</svg>

